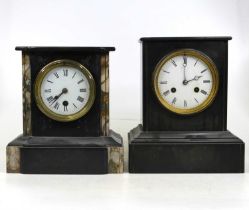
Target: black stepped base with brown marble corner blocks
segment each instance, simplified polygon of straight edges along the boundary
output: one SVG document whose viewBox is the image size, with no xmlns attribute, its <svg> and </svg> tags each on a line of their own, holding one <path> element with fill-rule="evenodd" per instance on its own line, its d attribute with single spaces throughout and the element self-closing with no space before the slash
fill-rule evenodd
<svg viewBox="0 0 249 210">
<path fill-rule="evenodd" d="M 7 146 L 7 172 L 122 173 L 122 138 L 113 131 L 106 137 L 19 136 Z"/>
</svg>

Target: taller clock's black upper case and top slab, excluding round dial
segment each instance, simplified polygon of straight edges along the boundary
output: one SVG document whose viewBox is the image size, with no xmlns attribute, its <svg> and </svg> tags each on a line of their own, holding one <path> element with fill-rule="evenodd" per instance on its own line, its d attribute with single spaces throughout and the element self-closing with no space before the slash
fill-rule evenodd
<svg viewBox="0 0 249 210">
<path fill-rule="evenodd" d="M 144 131 L 225 131 L 227 129 L 228 40 L 231 37 L 142 38 Z M 153 88 L 158 62 L 179 49 L 204 53 L 216 65 L 219 86 L 213 103 L 200 113 L 182 116 L 161 105 Z"/>
</svg>

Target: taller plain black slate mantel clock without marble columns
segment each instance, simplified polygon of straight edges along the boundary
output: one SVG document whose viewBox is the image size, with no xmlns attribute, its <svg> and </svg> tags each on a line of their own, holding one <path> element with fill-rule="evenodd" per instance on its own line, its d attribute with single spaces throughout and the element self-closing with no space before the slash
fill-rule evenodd
<svg viewBox="0 0 249 210">
<path fill-rule="evenodd" d="M 228 40 L 142 38 L 143 125 L 129 133 L 131 173 L 241 173 L 227 130 Z"/>
</svg>

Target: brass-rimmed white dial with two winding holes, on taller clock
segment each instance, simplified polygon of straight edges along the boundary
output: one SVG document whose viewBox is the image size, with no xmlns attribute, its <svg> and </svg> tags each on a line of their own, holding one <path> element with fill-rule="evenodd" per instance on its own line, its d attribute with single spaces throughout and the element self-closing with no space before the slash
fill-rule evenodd
<svg viewBox="0 0 249 210">
<path fill-rule="evenodd" d="M 163 57 L 153 72 L 153 89 L 164 108 L 180 115 L 205 110 L 218 91 L 214 62 L 194 49 L 180 49 Z"/>
</svg>

